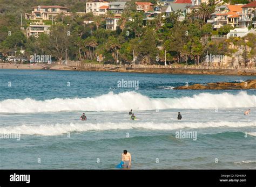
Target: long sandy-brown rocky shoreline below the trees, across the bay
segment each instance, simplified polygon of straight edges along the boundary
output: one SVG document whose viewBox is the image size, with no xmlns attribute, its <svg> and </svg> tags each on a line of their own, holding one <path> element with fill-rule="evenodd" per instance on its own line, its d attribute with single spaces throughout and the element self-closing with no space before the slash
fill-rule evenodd
<svg viewBox="0 0 256 187">
<path fill-rule="evenodd" d="M 63 66 L 59 64 L 10 64 L 0 63 L 0 69 L 24 70 L 70 70 L 70 71 L 109 71 L 119 73 L 188 74 L 188 75 L 243 75 L 256 76 L 256 69 L 196 69 L 196 68 L 158 68 L 158 67 L 103 67 L 103 66 Z"/>
</svg>

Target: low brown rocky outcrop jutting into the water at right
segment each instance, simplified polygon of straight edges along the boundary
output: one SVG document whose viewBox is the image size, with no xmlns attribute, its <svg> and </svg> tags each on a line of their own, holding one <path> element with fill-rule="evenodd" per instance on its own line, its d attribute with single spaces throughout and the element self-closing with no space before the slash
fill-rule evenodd
<svg viewBox="0 0 256 187">
<path fill-rule="evenodd" d="M 242 90 L 256 89 L 256 80 L 247 80 L 240 83 L 217 82 L 207 84 L 193 84 L 187 86 L 176 87 L 174 90 Z"/>
</svg>

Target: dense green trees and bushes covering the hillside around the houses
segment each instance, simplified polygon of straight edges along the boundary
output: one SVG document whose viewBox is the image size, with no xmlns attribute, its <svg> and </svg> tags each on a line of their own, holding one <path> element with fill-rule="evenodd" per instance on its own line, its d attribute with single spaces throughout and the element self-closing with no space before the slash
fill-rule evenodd
<svg viewBox="0 0 256 187">
<path fill-rule="evenodd" d="M 202 3 L 197 12 L 186 15 L 185 20 L 178 21 L 180 12 L 171 13 L 163 19 L 157 17 L 145 25 L 143 12 L 136 11 L 134 2 L 129 3 L 117 31 L 105 29 L 104 17 L 87 13 L 78 16 L 76 11 L 84 11 L 84 0 L 0 0 L 0 51 L 19 51 L 25 49 L 25 55 L 52 55 L 56 60 L 63 60 L 65 52 L 68 59 L 95 63 L 131 63 L 133 53 L 136 63 L 163 64 L 165 51 L 167 63 L 196 63 L 204 60 L 206 54 L 232 56 L 239 46 L 252 50 L 243 53 L 244 59 L 256 54 L 256 37 L 248 35 L 248 40 L 231 38 L 228 40 L 211 40 L 211 35 L 227 34 L 232 29 L 224 26 L 213 31 L 206 19 L 214 11 L 214 3 Z M 154 3 L 154 2 L 153 2 Z M 39 38 L 26 38 L 25 30 L 21 30 L 21 12 L 31 12 L 34 5 L 63 5 L 71 8 L 72 16 L 59 15 L 51 26 L 50 34 L 42 34 Z M 16 11 L 11 11 L 15 9 Z M 106 17 L 111 17 L 110 12 Z M 131 18 L 131 19 L 129 19 Z M 85 24 L 84 20 L 94 20 Z M 26 28 L 31 20 L 23 20 Z M 46 21 L 47 22 L 47 21 Z M 49 22 L 49 21 L 48 21 Z M 46 23 L 46 24 L 51 24 Z M 8 32 L 11 31 L 11 35 Z M 69 34 L 70 32 L 70 34 Z M 231 44 L 237 47 L 232 49 Z M 104 59 L 104 60 L 103 60 Z"/>
</svg>

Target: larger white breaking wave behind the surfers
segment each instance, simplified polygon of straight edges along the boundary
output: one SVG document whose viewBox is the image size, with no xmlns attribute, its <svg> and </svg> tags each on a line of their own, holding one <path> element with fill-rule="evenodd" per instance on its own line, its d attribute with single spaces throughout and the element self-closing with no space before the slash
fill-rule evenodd
<svg viewBox="0 0 256 187">
<path fill-rule="evenodd" d="M 127 111 L 164 109 L 213 109 L 255 106 L 255 95 L 241 91 L 231 93 L 200 93 L 192 97 L 150 98 L 137 92 L 123 92 L 87 98 L 55 98 L 48 100 L 6 99 L 0 102 L 0 112 L 33 113 L 58 111 Z"/>
</svg>

